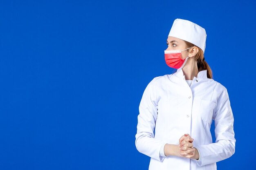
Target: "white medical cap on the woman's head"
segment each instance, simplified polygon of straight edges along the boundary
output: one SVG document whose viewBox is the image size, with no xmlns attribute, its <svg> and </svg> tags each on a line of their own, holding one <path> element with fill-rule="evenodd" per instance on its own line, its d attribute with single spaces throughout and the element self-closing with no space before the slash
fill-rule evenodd
<svg viewBox="0 0 256 170">
<path fill-rule="evenodd" d="M 205 29 L 188 20 L 176 19 L 173 22 L 168 36 L 180 38 L 205 50 L 206 32 Z"/>
</svg>

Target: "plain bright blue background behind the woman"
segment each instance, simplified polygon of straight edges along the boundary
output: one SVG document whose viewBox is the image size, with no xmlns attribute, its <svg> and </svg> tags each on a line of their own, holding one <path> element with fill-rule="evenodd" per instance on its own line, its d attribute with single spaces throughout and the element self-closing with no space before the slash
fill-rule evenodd
<svg viewBox="0 0 256 170">
<path fill-rule="evenodd" d="M 147 170 L 138 107 L 175 71 L 164 50 L 176 18 L 206 29 L 205 60 L 229 93 L 236 152 L 218 169 L 253 170 L 254 0 L 1 1 L 0 169 Z"/>
</svg>

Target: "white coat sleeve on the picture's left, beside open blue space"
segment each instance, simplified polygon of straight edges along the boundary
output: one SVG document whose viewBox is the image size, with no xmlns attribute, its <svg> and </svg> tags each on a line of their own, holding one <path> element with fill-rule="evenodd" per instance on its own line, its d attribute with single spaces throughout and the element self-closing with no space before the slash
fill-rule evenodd
<svg viewBox="0 0 256 170">
<path fill-rule="evenodd" d="M 139 104 L 139 115 L 137 134 L 135 135 L 135 146 L 137 150 L 158 161 L 163 161 L 160 154 L 164 144 L 154 138 L 155 122 L 157 119 L 157 97 L 155 93 L 155 79 L 146 87 Z"/>
</svg>

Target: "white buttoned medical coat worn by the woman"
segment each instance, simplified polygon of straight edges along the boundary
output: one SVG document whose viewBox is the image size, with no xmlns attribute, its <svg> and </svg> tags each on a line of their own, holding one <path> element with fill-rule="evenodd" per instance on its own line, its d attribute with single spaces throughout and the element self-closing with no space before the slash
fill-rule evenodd
<svg viewBox="0 0 256 170">
<path fill-rule="evenodd" d="M 212 119 L 215 143 L 210 132 Z M 146 87 L 139 105 L 135 145 L 151 157 L 149 170 L 216 170 L 216 162 L 235 152 L 233 124 L 227 89 L 207 78 L 206 70 L 200 71 L 189 87 L 181 69 L 155 77 Z M 162 156 L 163 146 L 179 144 L 185 133 L 194 139 L 200 159 Z"/>
</svg>

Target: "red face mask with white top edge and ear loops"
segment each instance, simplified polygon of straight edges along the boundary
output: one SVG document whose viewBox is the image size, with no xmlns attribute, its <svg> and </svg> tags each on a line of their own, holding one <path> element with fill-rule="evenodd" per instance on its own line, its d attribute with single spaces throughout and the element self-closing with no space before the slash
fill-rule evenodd
<svg viewBox="0 0 256 170">
<path fill-rule="evenodd" d="M 191 46 L 190 48 L 192 47 L 193 46 Z M 182 51 L 185 51 L 185 50 L 187 49 L 184 49 Z M 181 50 L 165 50 L 164 58 L 165 58 L 166 64 L 171 68 L 175 68 L 175 69 L 182 68 L 185 65 L 186 60 L 188 59 L 188 57 L 186 57 L 185 59 L 182 60 L 181 58 L 182 51 Z"/>
</svg>

